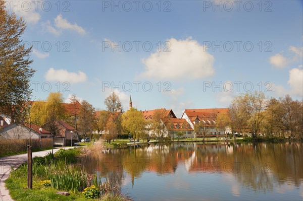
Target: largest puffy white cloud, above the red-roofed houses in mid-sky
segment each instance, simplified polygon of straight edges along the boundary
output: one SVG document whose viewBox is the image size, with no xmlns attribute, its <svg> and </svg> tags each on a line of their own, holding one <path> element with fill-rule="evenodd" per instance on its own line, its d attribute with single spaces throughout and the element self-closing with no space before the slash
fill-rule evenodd
<svg viewBox="0 0 303 201">
<path fill-rule="evenodd" d="M 214 75 L 214 56 L 196 40 L 169 39 L 170 51 L 152 53 L 142 59 L 146 71 L 140 77 L 158 80 L 194 80 Z M 163 48 L 162 48 L 163 50 Z"/>
</svg>

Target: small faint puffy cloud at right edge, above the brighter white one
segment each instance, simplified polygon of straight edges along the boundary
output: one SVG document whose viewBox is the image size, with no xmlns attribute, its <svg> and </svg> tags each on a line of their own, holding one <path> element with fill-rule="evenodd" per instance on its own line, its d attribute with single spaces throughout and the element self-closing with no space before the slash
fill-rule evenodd
<svg viewBox="0 0 303 201">
<path fill-rule="evenodd" d="M 269 58 L 269 62 L 277 67 L 277 68 L 284 68 L 285 66 L 298 62 L 302 60 L 303 57 L 303 47 L 295 47 L 295 46 L 289 46 L 288 50 L 294 55 L 292 57 L 284 57 L 282 54 L 275 54 Z"/>
</svg>

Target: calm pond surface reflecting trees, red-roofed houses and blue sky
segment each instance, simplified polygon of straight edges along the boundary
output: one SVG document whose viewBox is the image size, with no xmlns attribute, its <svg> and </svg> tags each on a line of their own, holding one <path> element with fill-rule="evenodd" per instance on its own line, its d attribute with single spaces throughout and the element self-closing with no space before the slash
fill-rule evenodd
<svg viewBox="0 0 303 201">
<path fill-rule="evenodd" d="M 83 158 L 134 200 L 303 200 L 302 143 L 173 143 Z"/>
</svg>

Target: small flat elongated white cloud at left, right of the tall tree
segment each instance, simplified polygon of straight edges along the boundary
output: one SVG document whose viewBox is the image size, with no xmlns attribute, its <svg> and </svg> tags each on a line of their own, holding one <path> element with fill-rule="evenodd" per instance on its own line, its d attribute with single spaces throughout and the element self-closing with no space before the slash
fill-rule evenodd
<svg viewBox="0 0 303 201">
<path fill-rule="evenodd" d="M 55 70 L 54 68 L 49 69 L 44 78 L 47 81 L 59 81 L 59 82 L 70 82 L 80 83 L 86 81 L 87 77 L 85 73 L 78 71 L 78 73 L 68 72 L 64 69 Z"/>
</svg>

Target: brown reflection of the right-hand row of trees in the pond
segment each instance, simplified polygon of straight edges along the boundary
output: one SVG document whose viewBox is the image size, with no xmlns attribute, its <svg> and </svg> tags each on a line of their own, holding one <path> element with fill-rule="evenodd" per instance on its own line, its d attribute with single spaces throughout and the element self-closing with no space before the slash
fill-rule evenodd
<svg viewBox="0 0 303 201">
<path fill-rule="evenodd" d="M 250 163 L 254 170 L 243 168 L 234 175 L 243 186 L 255 191 L 272 191 L 274 183 L 289 180 L 295 186 L 302 180 L 303 160 L 301 143 L 255 143 L 235 145 L 234 158 L 242 164 Z M 237 149 L 239 148 L 239 149 Z M 238 150 L 238 151 L 237 151 Z"/>
</svg>

